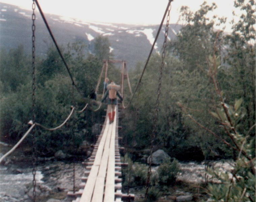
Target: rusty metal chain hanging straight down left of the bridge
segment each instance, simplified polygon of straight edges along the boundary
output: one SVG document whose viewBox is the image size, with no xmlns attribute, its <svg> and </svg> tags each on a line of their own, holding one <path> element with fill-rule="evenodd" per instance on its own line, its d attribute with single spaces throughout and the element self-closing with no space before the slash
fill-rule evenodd
<svg viewBox="0 0 256 202">
<path fill-rule="evenodd" d="M 33 4 L 32 4 L 32 115 L 33 115 L 33 122 L 35 122 L 36 119 L 36 115 L 35 115 L 35 30 L 36 30 L 36 26 L 35 26 L 35 19 L 36 19 L 36 15 L 35 15 L 35 8 L 36 8 L 36 4 L 35 4 L 35 0 L 33 0 Z M 33 170 L 32 170 L 32 174 L 33 174 L 33 201 L 36 201 L 36 138 L 35 138 L 35 132 L 32 133 L 33 135 Z"/>
</svg>

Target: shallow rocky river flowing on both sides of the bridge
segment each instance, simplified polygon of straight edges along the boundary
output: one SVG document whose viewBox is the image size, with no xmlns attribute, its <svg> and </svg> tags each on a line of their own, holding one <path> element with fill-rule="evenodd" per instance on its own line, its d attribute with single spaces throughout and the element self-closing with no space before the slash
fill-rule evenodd
<svg viewBox="0 0 256 202">
<path fill-rule="evenodd" d="M 75 185 L 82 182 L 85 168 L 81 162 L 75 164 Z M 211 162 L 211 165 L 230 171 L 232 166 L 229 162 Z M 181 172 L 177 179 L 188 183 L 205 182 L 204 163 L 180 163 Z M 156 168 L 155 168 L 156 169 Z M 8 164 L 0 167 L 0 199 L 1 202 L 31 202 L 32 195 L 32 168 L 26 163 Z M 67 192 L 73 189 L 73 164 L 62 161 L 46 161 L 37 166 L 36 183 L 38 185 L 37 197 L 46 202 L 50 199 L 57 201 L 70 201 Z M 30 195 L 30 196 L 29 196 Z M 51 200 L 50 200 L 51 201 Z"/>
</svg>

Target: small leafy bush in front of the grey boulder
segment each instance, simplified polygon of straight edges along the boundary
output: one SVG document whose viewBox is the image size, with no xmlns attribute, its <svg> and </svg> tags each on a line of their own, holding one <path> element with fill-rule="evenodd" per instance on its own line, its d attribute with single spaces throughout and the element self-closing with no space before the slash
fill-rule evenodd
<svg viewBox="0 0 256 202">
<path fill-rule="evenodd" d="M 166 161 L 158 167 L 159 184 L 170 185 L 176 181 L 176 176 L 179 172 L 178 160 L 172 162 Z"/>
</svg>

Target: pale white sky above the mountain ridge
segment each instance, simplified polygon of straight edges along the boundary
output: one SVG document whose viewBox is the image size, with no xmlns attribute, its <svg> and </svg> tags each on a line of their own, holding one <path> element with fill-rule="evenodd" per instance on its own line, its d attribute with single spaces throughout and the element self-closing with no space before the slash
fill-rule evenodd
<svg viewBox="0 0 256 202">
<path fill-rule="evenodd" d="M 232 20 L 234 0 L 206 0 L 218 6 L 214 14 Z M 0 3 L 18 5 L 32 10 L 32 0 L 0 0 Z M 168 0 L 38 0 L 44 13 L 76 18 L 82 21 L 96 21 L 125 24 L 159 24 Z M 187 5 L 192 11 L 198 10 L 204 0 L 174 0 L 171 2 L 170 23 L 177 23 L 180 8 Z M 227 23 L 226 31 L 230 31 Z"/>
</svg>

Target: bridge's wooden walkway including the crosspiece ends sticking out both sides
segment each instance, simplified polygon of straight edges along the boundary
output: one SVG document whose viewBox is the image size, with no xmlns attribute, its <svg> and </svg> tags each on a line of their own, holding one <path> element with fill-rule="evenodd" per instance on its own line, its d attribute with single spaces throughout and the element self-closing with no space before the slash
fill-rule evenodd
<svg viewBox="0 0 256 202">
<path fill-rule="evenodd" d="M 123 199 L 133 200 L 134 195 L 122 194 L 121 160 L 118 144 L 118 107 L 114 122 L 106 119 L 95 144 L 93 153 L 87 162 L 85 177 L 81 189 L 69 196 L 76 198 L 73 202 L 114 202 Z"/>
</svg>

